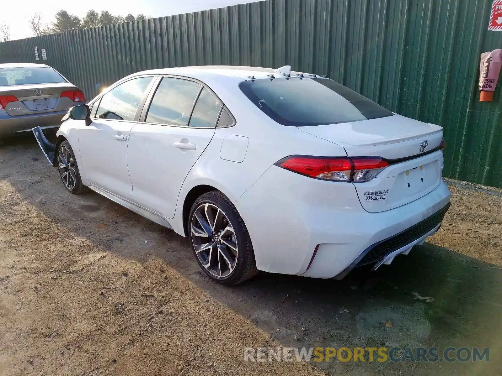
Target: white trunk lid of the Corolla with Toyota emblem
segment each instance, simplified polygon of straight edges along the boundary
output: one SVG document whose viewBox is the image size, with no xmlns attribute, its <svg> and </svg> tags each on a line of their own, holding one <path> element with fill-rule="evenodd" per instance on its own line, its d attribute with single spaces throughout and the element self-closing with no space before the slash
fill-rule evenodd
<svg viewBox="0 0 502 376">
<path fill-rule="evenodd" d="M 380 156 L 390 165 L 366 182 L 354 182 L 361 206 L 370 213 L 415 201 L 441 182 L 443 128 L 400 115 L 352 123 L 299 127 L 345 148 L 348 156 Z M 427 144 L 424 148 L 424 145 Z"/>
</svg>

